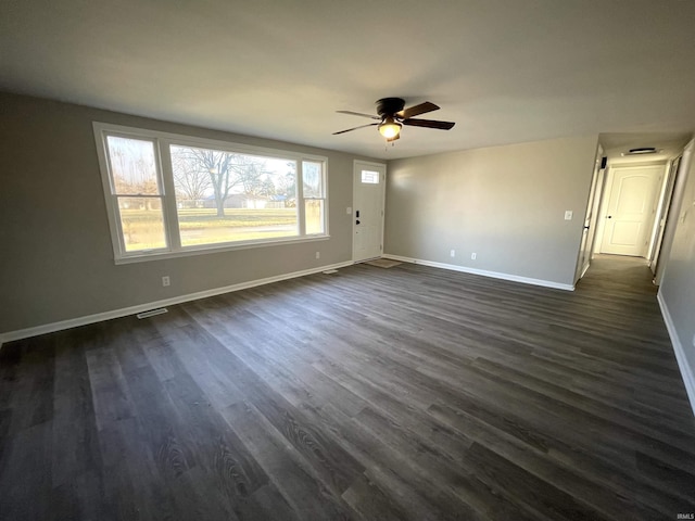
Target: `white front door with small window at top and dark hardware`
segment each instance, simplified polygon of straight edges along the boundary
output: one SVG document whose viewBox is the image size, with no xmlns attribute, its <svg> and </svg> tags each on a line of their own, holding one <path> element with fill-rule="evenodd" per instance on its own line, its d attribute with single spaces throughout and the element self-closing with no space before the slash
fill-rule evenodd
<svg viewBox="0 0 695 521">
<path fill-rule="evenodd" d="M 355 263 L 383 251 L 383 203 L 387 167 L 355 161 L 353 175 L 353 243 Z"/>
</svg>

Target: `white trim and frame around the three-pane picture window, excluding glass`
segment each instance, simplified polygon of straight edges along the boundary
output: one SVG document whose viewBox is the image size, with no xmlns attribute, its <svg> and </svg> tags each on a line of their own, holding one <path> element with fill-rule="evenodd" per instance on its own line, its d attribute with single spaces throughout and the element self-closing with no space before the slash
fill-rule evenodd
<svg viewBox="0 0 695 521">
<path fill-rule="evenodd" d="M 229 252 L 235 250 L 248 250 L 253 247 L 277 246 L 282 244 L 295 244 L 302 242 L 325 241 L 330 239 L 329 233 L 329 212 L 328 212 L 328 157 L 323 155 L 304 154 L 292 152 L 289 150 L 270 149 L 265 147 L 255 147 L 250 144 L 235 143 L 230 141 L 219 141 L 207 138 L 199 138 L 194 136 L 186 136 L 179 134 L 162 132 L 159 130 L 149 130 L 138 127 L 125 127 L 122 125 L 113 125 L 109 123 L 93 122 L 94 140 L 97 143 L 97 155 L 99 158 L 99 169 L 101 173 L 101 181 L 104 192 L 104 201 L 106 203 L 106 212 L 109 218 L 109 229 L 111 232 L 111 242 L 114 252 L 115 264 L 141 263 L 148 260 L 156 260 L 164 258 L 186 257 L 191 255 L 202 255 L 208 253 Z M 140 250 L 137 252 L 126 252 L 123 244 L 123 232 L 121 230 L 121 219 L 118 216 L 117 205 L 114 205 L 114 196 L 112 194 L 111 175 L 109 170 L 109 158 L 106 153 L 105 135 L 119 135 L 125 138 L 144 139 L 154 142 L 156 161 L 160 167 L 157 173 L 161 179 L 163 190 L 162 207 L 164 228 L 166 234 L 166 249 L 157 250 Z M 224 152 L 241 153 L 255 156 L 267 156 L 273 158 L 287 158 L 296 163 L 296 211 L 298 227 L 300 234 L 296 237 L 282 237 L 277 239 L 256 239 L 253 241 L 236 241 L 216 244 L 202 244 L 194 246 L 181 246 L 178 233 L 172 233 L 173 227 L 178 226 L 178 214 L 176 208 L 176 198 L 174 192 L 174 177 L 172 173 L 170 157 L 168 155 L 169 144 L 182 144 L 188 147 L 200 147 L 215 149 Z M 163 149 L 167 153 L 163 153 Z M 304 234 L 304 198 L 302 193 L 302 162 L 321 163 L 324 175 L 324 233 Z M 309 198 L 312 199 L 312 198 Z M 300 208 L 302 206 L 302 208 Z M 173 237 L 174 236 L 174 237 Z"/>
</svg>

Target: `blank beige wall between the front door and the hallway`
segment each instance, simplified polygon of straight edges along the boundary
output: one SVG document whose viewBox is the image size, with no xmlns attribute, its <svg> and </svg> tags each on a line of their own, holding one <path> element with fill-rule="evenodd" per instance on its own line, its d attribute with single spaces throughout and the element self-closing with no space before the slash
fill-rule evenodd
<svg viewBox="0 0 695 521">
<path fill-rule="evenodd" d="M 596 147 L 590 136 L 392 161 L 384 251 L 572 285 Z"/>
</svg>

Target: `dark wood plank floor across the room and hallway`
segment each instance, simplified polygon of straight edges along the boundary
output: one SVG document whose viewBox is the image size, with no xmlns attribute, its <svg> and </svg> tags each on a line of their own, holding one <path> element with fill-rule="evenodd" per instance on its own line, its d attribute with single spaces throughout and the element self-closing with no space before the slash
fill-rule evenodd
<svg viewBox="0 0 695 521">
<path fill-rule="evenodd" d="M 695 512 L 643 259 L 576 292 L 357 265 L 7 344 L 2 520 Z"/>
</svg>

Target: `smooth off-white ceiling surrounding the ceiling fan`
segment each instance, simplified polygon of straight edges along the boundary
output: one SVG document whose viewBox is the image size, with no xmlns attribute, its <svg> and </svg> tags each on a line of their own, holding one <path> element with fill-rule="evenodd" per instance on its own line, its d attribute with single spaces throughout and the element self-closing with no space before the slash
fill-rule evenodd
<svg viewBox="0 0 695 521">
<path fill-rule="evenodd" d="M 695 129 L 695 2 L 5 0 L 0 90 L 383 158 L 672 136 Z M 456 126 L 331 135 L 383 97 Z"/>
</svg>

